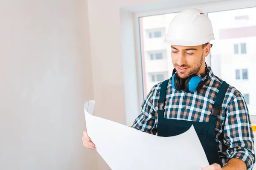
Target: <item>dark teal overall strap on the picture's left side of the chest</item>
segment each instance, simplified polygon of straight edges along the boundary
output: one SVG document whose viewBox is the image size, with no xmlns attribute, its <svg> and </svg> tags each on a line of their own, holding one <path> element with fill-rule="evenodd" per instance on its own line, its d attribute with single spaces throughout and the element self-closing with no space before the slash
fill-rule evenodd
<svg viewBox="0 0 256 170">
<path fill-rule="evenodd" d="M 169 79 L 162 82 L 160 85 L 160 98 L 158 100 L 158 117 L 163 118 L 164 112 L 164 103 L 166 101 L 166 89 L 168 85 Z"/>
</svg>

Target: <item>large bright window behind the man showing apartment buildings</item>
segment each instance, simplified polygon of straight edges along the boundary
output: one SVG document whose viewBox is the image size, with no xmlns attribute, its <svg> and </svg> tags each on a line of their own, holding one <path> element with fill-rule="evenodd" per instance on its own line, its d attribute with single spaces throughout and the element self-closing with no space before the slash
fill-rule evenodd
<svg viewBox="0 0 256 170">
<path fill-rule="evenodd" d="M 256 96 L 256 91 L 248 88 L 256 84 L 256 79 L 254 80 L 252 79 L 252 75 L 248 75 L 248 70 L 252 70 L 253 66 L 256 65 L 255 55 L 250 52 L 253 51 L 250 48 L 253 48 L 256 42 L 255 2 L 254 4 L 244 4 L 242 2 L 228 3 L 225 3 L 224 6 L 220 5 L 221 8 L 217 4 L 198 7 L 208 15 L 215 35 L 215 40 L 211 41 L 213 46 L 209 56 L 206 57 L 206 62 L 212 68 L 215 76 L 233 85 L 238 90 L 248 89 L 247 94 Z M 244 7 L 250 6 L 250 8 L 239 8 L 241 4 Z M 221 11 L 223 9 L 224 11 Z M 158 11 L 136 14 L 139 18 L 138 33 L 140 34 L 138 35 L 140 35 L 140 41 L 138 42 L 140 42 L 140 48 L 138 47 L 138 49 L 141 52 L 140 61 L 142 62 L 142 68 L 140 70 L 142 70 L 144 97 L 154 86 L 154 83 L 172 76 L 173 65 L 171 52 L 169 46 L 162 42 L 167 34 L 166 31 L 169 28 L 170 21 L 178 14 L 176 12 L 180 10 L 183 10 L 183 8 L 166 9 L 159 11 L 158 14 Z M 168 14 L 168 12 L 173 13 Z M 148 38 L 149 33 L 151 34 L 150 37 L 152 40 L 143 39 L 145 37 Z M 158 38 L 153 40 L 154 37 Z M 162 53 L 161 50 L 165 52 Z M 166 59 L 166 62 L 154 62 L 152 59 Z M 160 73 L 164 73 L 163 76 L 157 77 L 157 74 Z M 250 81 L 247 81 L 249 78 Z M 245 97 L 247 96 L 245 95 Z M 256 100 L 250 98 L 251 107 L 253 106 L 252 104 L 256 104 Z M 254 108 L 249 108 L 249 111 L 251 115 L 256 115 Z"/>
</svg>

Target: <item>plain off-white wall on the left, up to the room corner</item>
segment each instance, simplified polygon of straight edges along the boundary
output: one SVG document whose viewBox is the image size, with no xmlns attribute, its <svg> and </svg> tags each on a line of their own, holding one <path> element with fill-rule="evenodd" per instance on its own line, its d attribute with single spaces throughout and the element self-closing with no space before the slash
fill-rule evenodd
<svg viewBox="0 0 256 170">
<path fill-rule="evenodd" d="M 0 169 L 96 170 L 86 0 L 0 1 Z"/>
</svg>

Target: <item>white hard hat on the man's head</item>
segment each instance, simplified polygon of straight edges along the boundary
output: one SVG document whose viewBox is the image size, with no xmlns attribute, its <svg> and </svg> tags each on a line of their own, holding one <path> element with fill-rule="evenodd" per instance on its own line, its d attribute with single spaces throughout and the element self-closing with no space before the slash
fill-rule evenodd
<svg viewBox="0 0 256 170">
<path fill-rule="evenodd" d="M 212 23 L 199 9 L 181 11 L 169 25 L 164 42 L 170 45 L 196 46 L 215 40 Z"/>
</svg>

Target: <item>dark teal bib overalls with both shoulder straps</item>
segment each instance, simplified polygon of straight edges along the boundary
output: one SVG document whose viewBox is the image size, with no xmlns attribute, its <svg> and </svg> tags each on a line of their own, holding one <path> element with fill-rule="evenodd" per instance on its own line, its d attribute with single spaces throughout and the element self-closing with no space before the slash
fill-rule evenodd
<svg viewBox="0 0 256 170">
<path fill-rule="evenodd" d="M 194 122 L 177 119 L 164 118 L 164 106 L 166 102 L 166 91 L 169 79 L 165 80 L 160 89 L 160 99 L 158 100 L 158 125 L 157 136 L 175 136 L 185 131 L 193 125 L 198 138 L 204 148 L 209 164 L 217 163 L 221 165 L 218 156 L 217 144 L 215 139 L 215 121 L 218 113 L 221 110 L 221 105 L 224 100 L 229 84 L 222 82 L 221 88 L 217 94 L 214 104 L 212 105 L 212 113 L 209 117 L 209 122 Z M 222 135 L 222 134 L 221 134 Z"/>
</svg>

